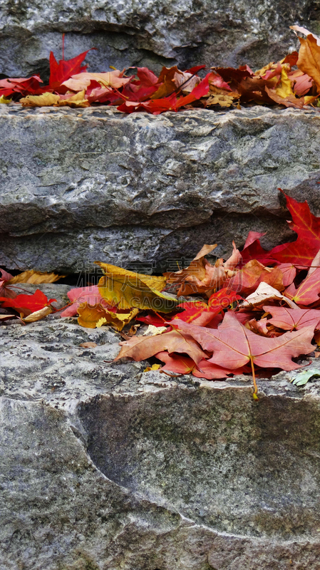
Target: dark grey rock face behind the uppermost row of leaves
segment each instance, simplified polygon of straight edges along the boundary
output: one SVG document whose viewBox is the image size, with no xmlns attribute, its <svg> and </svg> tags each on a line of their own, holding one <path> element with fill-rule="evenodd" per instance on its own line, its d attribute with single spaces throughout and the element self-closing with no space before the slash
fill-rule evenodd
<svg viewBox="0 0 320 570">
<path fill-rule="evenodd" d="M 319 33 L 318 0 L 2 0 L 0 73 L 48 73 L 52 49 L 66 57 L 95 46 L 91 71 L 108 66 L 238 66 L 260 68 L 296 47 L 289 30 Z"/>
</svg>

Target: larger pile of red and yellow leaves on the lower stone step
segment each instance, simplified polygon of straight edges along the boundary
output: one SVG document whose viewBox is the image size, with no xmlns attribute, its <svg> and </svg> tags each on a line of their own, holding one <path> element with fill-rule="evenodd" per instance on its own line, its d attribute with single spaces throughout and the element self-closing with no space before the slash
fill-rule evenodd
<svg viewBox="0 0 320 570">
<path fill-rule="evenodd" d="M 155 357 L 162 365 L 152 370 L 207 380 L 249 373 L 257 398 L 257 375 L 303 368 L 308 363 L 294 359 L 320 354 L 320 217 L 306 202 L 284 196 L 295 242 L 268 252 L 259 242 L 264 234 L 249 232 L 242 251 L 233 244 L 226 261 L 210 263 L 206 256 L 216 244 L 206 244 L 187 268 L 163 276 L 97 261 L 103 270 L 98 285 L 71 289 L 61 317 L 120 331 L 125 340 L 115 361 Z M 1 271 L 0 322 L 19 318 L 25 324 L 62 311 L 39 290 L 16 292 L 22 283 L 56 279 Z M 148 325 L 144 332 L 141 323 Z"/>
</svg>

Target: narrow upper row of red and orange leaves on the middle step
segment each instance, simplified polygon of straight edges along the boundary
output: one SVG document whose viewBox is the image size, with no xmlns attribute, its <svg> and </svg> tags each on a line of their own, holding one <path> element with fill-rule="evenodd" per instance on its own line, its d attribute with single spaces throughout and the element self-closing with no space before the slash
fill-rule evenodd
<svg viewBox="0 0 320 570">
<path fill-rule="evenodd" d="M 240 103 L 284 105 L 304 108 L 319 106 L 320 39 L 300 26 L 299 53 L 294 51 L 282 61 L 268 63 L 258 71 L 249 66 L 211 68 L 201 78 L 205 66 L 181 71 L 177 66 L 163 67 L 159 76 L 148 68 L 89 73 L 83 66 L 88 51 L 59 62 L 50 53 L 48 85 L 38 75 L 6 78 L 0 81 L 0 103 L 19 102 L 26 107 L 74 107 L 115 105 L 123 113 L 146 111 L 158 115 L 192 107 L 227 108 Z M 94 49 L 94 48 L 93 48 Z"/>
</svg>

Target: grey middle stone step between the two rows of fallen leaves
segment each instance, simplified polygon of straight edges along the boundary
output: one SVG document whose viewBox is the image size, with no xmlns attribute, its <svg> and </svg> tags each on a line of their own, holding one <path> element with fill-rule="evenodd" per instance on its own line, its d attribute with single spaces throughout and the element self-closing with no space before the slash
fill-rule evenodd
<svg viewBox="0 0 320 570">
<path fill-rule="evenodd" d="M 318 110 L 1 105 L 0 265 L 167 269 L 203 243 L 227 254 L 249 229 L 266 247 L 294 238 L 277 187 L 320 213 L 319 126 Z"/>
</svg>

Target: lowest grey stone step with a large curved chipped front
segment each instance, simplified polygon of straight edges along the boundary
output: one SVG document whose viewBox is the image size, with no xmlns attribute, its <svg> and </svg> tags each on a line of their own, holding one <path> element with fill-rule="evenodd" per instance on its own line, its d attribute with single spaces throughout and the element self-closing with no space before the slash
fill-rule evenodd
<svg viewBox="0 0 320 570">
<path fill-rule="evenodd" d="M 118 341 L 1 326 L 0 569 L 319 570 L 320 381 L 254 402 L 249 377 L 110 363 Z"/>
</svg>

